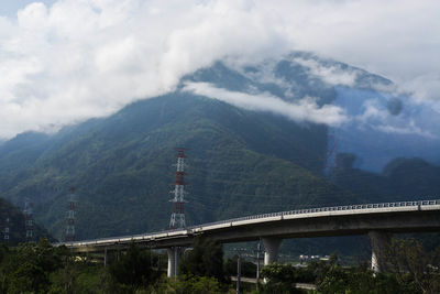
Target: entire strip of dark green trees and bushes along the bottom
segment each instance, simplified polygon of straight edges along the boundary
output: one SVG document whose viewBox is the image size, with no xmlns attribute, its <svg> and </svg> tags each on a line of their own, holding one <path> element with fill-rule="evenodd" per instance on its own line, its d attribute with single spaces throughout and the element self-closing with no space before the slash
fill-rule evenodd
<svg viewBox="0 0 440 294">
<path fill-rule="evenodd" d="M 76 255 L 46 239 L 16 248 L 0 247 L 0 293 L 234 293 L 221 247 L 197 240 L 180 262 L 180 274 L 167 279 L 161 257 L 131 246 L 103 266 L 96 257 Z M 163 258 L 163 257 L 162 257 Z M 266 283 L 242 283 L 243 293 L 307 293 L 296 283 L 315 284 L 314 293 L 435 294 L 440 291 L 440 247 L 427 251 L 414 239 L 394 240 L 386 252 L 387 272 L 374 274 L 366 263 L 343 266 L 336 255 L 305 268 L 272 264 L 262 269 Z M 251 269 L 251 268 L 250 268 Z M 254 269 L 253 269 L 254 270 Z M 246 272 L 243 272 L 245 276 Z M 248 274 L 253 276 L 251 270 Z"/>
</svg>

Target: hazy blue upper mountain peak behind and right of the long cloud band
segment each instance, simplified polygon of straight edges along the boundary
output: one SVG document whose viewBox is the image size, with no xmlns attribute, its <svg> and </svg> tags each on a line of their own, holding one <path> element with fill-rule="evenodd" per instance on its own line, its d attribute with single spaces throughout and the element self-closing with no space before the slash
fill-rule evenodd
<svg viewBox="0 0 440 294">
<path fill-rule="evenodd" d="M 338 153 L 355 154 L 354 165 L 374 173 L 396 157 L 440 164 L 439 109 L 400 92 L 389 79 L 344 63 L 294 52 L 252 65 L 217 63 L 183 80 L 231 92 L 268 94 L 288 102 L 312 97 L 320 106 L 339 107 L 346 120 L 329 128 L 330 167 Z"/>
</svg>

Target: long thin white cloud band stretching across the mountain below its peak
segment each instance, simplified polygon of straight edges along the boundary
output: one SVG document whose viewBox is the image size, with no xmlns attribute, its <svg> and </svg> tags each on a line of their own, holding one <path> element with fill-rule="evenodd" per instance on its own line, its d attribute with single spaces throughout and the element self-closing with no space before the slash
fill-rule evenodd
<svg viewBox="0 0 440 294">
<path fill-rule="evenodd" d="M 323 123 L 334 127 L 344 123 L 349 119 L 343 109 L 332 105 L 319 107 L 312 97 L 306 97 L 296 102 L 286 102 L 266 92 L 251 95 L 229 91 L 213 87 L 209 83 L 187 83 L 183 90 L 218 99 L 252 111 L 267 111 L 280 115 L 297 122 Z"/>
</svg>

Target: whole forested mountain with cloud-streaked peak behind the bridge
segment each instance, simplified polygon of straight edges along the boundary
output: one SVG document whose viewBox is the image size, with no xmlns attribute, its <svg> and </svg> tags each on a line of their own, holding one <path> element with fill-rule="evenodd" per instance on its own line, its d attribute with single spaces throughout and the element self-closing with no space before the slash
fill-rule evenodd
<svg viewBox="0 0 440 294">
<path fill-rule="evenodd" d="M 440 155 L 432 148 L 436 130 L 417 133 L 424 126 L 420 113 L 428 110 L 419 106 L 411 112 L 407 98 L 392 96 L 391 88 L 388 79 L 308 53 L 252 65 L 218 62 L 184 76 L 175 90 L 107 118 L 3 142 L 0 193 L 14 204 L 31 198 L 35 218 L 59 239 L 72 186 L 78 197 L 77 239 L 161 230 L 168 227 L 172 209 L 174 149 L 185 146 L 188 226 L 397 199 L 403 188 L 396 183 L 411 178 L 414 166 L 428 166 L 427 185 L 435 187 L 432 162 Z M 385 107 L 381 121 L 367 116 L 372 107 Z M 393 135 L 384 131 L 404 130 L 411 113 L 418 113 L 413 129 Z M 375 161 L 383 154 L 383 137 L 393 139 L 385 141 L 389 152 Z M 381 138 L 378 148 L 359 145 L 367 138 Z M 425 141 L 405 149 L 415 138 Z M 398 146 L 403 152 L 394 153 Z M 427 165 L 404 164 L 416 153 Z M 405 197 L 418 197 L 417 187 Z M 396 190 L 384 193 L 388 188 Z"/>
</svg>

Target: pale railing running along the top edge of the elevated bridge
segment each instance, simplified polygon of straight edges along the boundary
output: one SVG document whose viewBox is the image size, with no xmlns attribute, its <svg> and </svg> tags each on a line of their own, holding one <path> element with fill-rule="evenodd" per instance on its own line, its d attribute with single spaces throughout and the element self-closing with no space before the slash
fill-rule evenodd
<svg viewBox="0 0 440 294">
<path fill-rule="evenodd" d="M 323 211 L 341 211 L 341 210 L 359 210 L 359 209 L 381 209 L 381 208 L 393 208 L 393 207 L 421 207 L 421 206 L 433 206 L 440 205 L 440 200 L 416 200 L 416 202 L 397 202 L 397 203 L 380 203 L 380 204 L 358 204 L 358 205 L 343 205 L 343 206 L 330 206 L 330 207 L 318 207 L 318 208 L 305 208 L 305 209 L 295 209 L 288 211 L 279 211 L 279 213 L 271 213 L 271 214 L 261 214 L 254 216 L 246 216 L 240 218 L 232 218 L 226 219 L 215 222 L 202 224 L 198 226 L 187 227 L 185 229 L 176 229 L 176 230 L 165 230 L 165 231 L 157 231 L 157 232 L 150 232 L 150 233 L 140 233 L 140 235 L 132 235 L 132 236 L 121 236 L 121 237 L 109 237 L 109 238 L 100 238 L 100 239 L 92 239 L 92 240 L 84 240 L 84 241 L 75 241 L 75 242 L 65 242 L 65 243 L 57 243 L 58 244 L 66 244 L 68 247 L 80 247 L 87 244 L 105 244 L 109 242 L 121 242 L 125 240 L 148 240 L 153 239 L 154 237 L 168 237 L 169 235 L 176 235 L 182 231 L 183 235 L 186 235 L 190 230 L 201 229 L 204 227 L 211 227 L 217 225 L 224 225 L 231 222 L 238 222 L 243 220 L 251 220 L 251 219 L 262 219 L 262 218 L 270 218 L 270 217 L 283 217 L 283 216 L 290 216 L 290 215 L 304 215 L 304 214 L 318 214 Z"/>
</svg>

